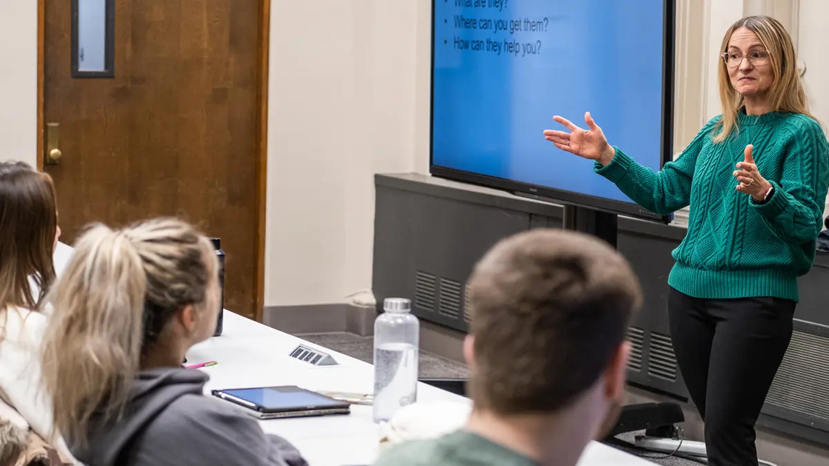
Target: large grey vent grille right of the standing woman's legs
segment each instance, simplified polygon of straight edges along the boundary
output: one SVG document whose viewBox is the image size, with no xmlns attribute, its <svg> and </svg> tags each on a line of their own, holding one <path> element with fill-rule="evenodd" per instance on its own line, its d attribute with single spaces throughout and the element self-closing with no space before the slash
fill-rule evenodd
<svg viewBox="0 0 829 466">
<path fill-rule="evenodd" d="M 766 403 L 829 421 L 829 337 L 792 334 Z"/>
</svg>

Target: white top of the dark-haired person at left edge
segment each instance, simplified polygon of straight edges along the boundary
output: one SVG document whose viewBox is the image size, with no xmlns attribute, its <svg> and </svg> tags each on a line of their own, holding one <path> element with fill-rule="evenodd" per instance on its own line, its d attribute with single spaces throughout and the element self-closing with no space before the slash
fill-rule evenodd
<svg viewBox="0 0 829 466">
<path fill-rule="evenodd" d="M 65 458 L 72 458 L 64 440 L 52 436 L 51 401 L 41 386 L 40 350 L 46 316 L 23 308 L 0 313 L 5 314 L 0 315 L 0 389 L 36 434 Z"/>
</svg>

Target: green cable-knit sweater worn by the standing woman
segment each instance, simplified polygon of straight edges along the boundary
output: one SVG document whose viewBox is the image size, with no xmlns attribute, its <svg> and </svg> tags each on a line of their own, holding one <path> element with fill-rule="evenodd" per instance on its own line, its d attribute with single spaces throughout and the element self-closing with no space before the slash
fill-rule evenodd
<svg viewBox="0 0 829 466">
<path fill-rule="evenodd" d="M 673 251 L 668 284 L 695 298 L 768 296 L 798 299 L 797 277 L 812 268 L 829 189 L 829 143 L 820 124 L 802 114 L 738 114 L 738 126 L 714 143 L 712 119 L 661 172 L 616 148 L 596 172 L 648 211 L 690 207 L 688 233 Z M 764 204 L 735 189 L 744 149 L 774 194 Z M 615 148 L 615 147 L 614 147 Z"/>
</svg>

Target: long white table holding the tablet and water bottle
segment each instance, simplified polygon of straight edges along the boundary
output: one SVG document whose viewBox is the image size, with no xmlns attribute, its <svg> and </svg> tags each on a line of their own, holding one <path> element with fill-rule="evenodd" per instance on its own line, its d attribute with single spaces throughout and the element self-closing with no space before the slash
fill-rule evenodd
<svg viewBox="0 0 829 466">
<path fill-rule="evenodd" d="M 311 366 L 288 357 L 298 344 L 332 355 L 338 366 Z M 371 364 L 332 352 L 298 337 L 225 311 L 221 337 L 211 338 L 187 352 L 188 363 L 216 361 L 202 369 L 211 376 L 205 392 L 219 388 L 296 385 L 309 390 L 371 393 Z M 469 403 L 463 396 L 420 384 L 418 400 Z M 261 421 L 265 432 L 278 434 L 297 446 L 311 466 L 371 464 L 379 452 L 379 429 L 371 407 L 354 405 L 351 415 Z M 579 466 L 645 466 L 652 463 L 598 442 L 589 444 Z"/>
</svg>

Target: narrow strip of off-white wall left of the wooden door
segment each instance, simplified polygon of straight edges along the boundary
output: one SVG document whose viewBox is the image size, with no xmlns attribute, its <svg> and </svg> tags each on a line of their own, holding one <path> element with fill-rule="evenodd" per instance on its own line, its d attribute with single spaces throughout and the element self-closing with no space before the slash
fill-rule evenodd
<svg viewBox="0 0 829 466">
<path fill-rule="evenodd" d="M 37 2 L 0 1 L 0 160 L 37 163 Z"/>
</svg>

